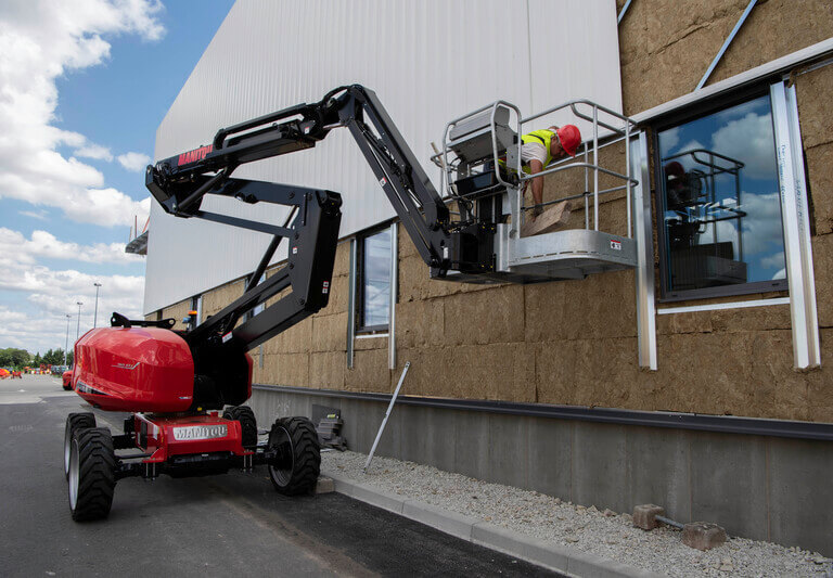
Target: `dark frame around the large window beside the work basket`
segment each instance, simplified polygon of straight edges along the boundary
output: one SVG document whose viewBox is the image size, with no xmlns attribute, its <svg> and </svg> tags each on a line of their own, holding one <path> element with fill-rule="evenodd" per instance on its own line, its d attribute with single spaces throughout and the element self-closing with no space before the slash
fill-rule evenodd
<svg viewBox="0 0 833 578">
<path fill-rule="evenodd" d="M 744 89 L 741 89 L 741 90 L 733 91 L 731 94 L 721 94 L 717 98 L 706 99 L 697 103 L 694 103 L 692 106 L 689 106 L 683 111 L 676 111 L 669 115 L 661 117 L 651 124 L 651 132 L 652 132 L 651 143 L 653 146 L 653 153 L 651 156 L 654 163 L 653 178 L 655 183 L 654 208 L 656 214 L 656 234 L 657 234 L 657 244 L 658 244 L 657 248 L 658 248 L 658 256 L 659 256 L 659 296 L 657 298 L 658 303 L 677 303 L 677 301 L 687 301 L 687 300 L 696 300 L 696 299 L 708 299 L 714 297 L 731 297 L 731 296 L 773 293 L 773 292 L 781 293 L 781 292 L 787 292 L 790 290 L 787 278 L 770 280 L 770 281 L 753 281 L 749 283 L 743 283 L 738 285 L 720 285 L 716 287 L 703 287 L 703 288 L 693 288 L 693 290 L 674 291 L 668 288 L 669 256 L 666 249 L 667 241 L 668 241 L 667 234 L 666 234 L 666 228 L 665 228 L 666 195 L 665 195 L 665 188 L 664 188 L 665 177 L 663 175 L 663 166 L 662 166 L 662 158 L 661 158 L 662 155 L 659 153 L 659 133 L 665 130 L 684 125 L 687 123 L 691 123 L 693 120 L 697 120 L 700 118 L 704 118 L 706 116 L 717 114 L 732 106 L 743 104 L 744 102 L 748 102 L 753 99 L 757 99 L 764 95 L 766 95 L 770 100 L 770 115 L 771 115 L 772 123 L 774 125 L 776 112 L 772 107 L 772 98 L 770 95 L 770 85 L 771 82 L 767 80 L 760 84 L 755 84 L 753 86 L 745 87 Z M 773 126 L 773 134 L 774 134 L 774 126 Z M 779 176 L 779 181 L 780 181 L 780 176 Z M 783 208 L 780 202 L 779 202 L 779 211 L 781 213 L 781 232 L 783 234 L 784 233 L 783 231 L 784 215 L 783 215 Z"/>
</svg>

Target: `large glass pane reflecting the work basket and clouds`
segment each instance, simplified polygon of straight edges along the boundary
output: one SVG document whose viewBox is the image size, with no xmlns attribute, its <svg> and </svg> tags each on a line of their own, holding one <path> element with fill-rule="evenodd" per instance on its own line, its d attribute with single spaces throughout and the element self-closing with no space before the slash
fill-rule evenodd
<svg viewBox="0 0 833 578">
<path fill-rule="evenodd" d="M 659 133 L 668 291 L 785 279 L 769 97 Z"/>
</svg>

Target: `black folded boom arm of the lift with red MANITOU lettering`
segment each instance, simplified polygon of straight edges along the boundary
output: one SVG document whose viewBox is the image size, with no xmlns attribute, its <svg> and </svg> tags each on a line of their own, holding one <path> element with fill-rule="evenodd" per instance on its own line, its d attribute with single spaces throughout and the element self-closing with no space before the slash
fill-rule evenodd
<svg viewBox="0 0 833 578">
<path fill-rule="evenodd" d="M 299 104 L 229 128 L 212 144 L 149 166 L 145 184 L 170 215 L 201 218 L 273 235 L 244 295 L 185 334 L 196 350 L 205 347 L 252 349 L 326 305 L 341 222 L 341 196 L 318 191 L 232 178 L 242 164 L 310 149 L 331 130 L 346 127 L 370 164 L 384 193 L 401 219 L 433 277 L 449 270 L 484 272 L 477 239 L 449 218 L 449 210 L 428 180 L 375 93 L 359 85 L 330 91 L 320 102 Z M 206 194 L 245 203 L 277 203 L 293 207 L 278 227 L 204 211 Z M 258 280 L 281 239 L 290 240 L 286 266 L 262 283 Z M 474 257 L 470 257 L 474 255 Z M 291 287 L 252 319 L 243 314 Z"/>
</svg>

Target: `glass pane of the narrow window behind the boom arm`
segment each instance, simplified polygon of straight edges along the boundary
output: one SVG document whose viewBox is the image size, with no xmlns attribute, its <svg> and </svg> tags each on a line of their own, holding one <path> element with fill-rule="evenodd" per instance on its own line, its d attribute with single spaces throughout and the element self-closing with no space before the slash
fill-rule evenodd
<svg viewBox="0 0 833 578">
<path fill-rule="evenodd" d="M 390 231 L 366 237 L 362 248 L 362 325 L 387 325 L 390 316 Z"/>
</svg>

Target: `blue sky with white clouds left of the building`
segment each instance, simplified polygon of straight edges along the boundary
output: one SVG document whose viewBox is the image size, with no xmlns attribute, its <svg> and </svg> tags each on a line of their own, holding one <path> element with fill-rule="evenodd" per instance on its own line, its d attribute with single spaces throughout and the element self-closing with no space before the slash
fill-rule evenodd
<svg viewBox="0 0 833 578">
<path fill-rule="evenodd" d="M 156 127 L 232 0 L 0 2 L 0 348 L 138 317 Z M 80 319 L 77 301 L 82 301 Z"/>
</svg>

